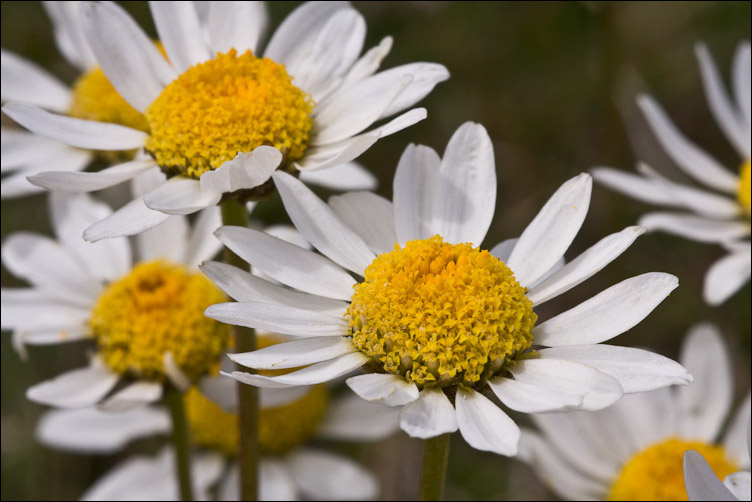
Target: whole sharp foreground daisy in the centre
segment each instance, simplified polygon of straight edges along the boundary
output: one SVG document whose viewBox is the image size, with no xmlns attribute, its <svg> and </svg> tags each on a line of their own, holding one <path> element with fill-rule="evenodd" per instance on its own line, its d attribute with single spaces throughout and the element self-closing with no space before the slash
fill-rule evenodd
<svg viewBox="0 0 752 502">
<path fill-rule="evenodd" d="M 664 357 L 600 345 L 648 315 L 677 286 L 671 275 L 627 279 L 537 323 L 535 306 L 591 277 L 643 232 L 627 228 L 559 268 L 587 213 L 587 174 L 566 182 L 519 239 L 490 252 L 475 247 L 496 203 L 493 148 L 478 124 L 460 127 L 443 159 L 409 146 L 393 204 L 355 192 L 327 205 L 289 174 L 273 177 L 298 231 L 323 256 L 222 227 L 216 235 L 226 246 L 289 288 L 207 263 L 202 270 L 237 303 L 206 314 L 299 337 L 231 355 L 235 362 L 264 370 L 310 366 L 279 376 L 233 372 L 241 382 L 313 385 L 363 367 L 348 386 L 368 401 L 402 406 L 400 426 L 411 436 L 459 428 L 477 449 L 514 455 L 519 429 L 485 397 L 488 390 L 523 412 L 594 410 L 625 392 L 690 380 Z"/>
</svg>

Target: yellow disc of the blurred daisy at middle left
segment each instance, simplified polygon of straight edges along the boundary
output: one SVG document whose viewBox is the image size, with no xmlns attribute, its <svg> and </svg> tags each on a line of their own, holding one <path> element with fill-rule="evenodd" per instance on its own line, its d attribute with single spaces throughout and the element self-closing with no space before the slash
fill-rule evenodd
<svg viewBox="0 0 752 502">
<path fill-rule="evenodd" d="M 230 327 L 204 316 L 226 301 L 200 273 L 154 261 L 137 265 L 97 300 L 89 327 L 104 362 L 116 373 L 164 381 L 164 354 L 195 380 L 216 366 Z"/>
</svg>

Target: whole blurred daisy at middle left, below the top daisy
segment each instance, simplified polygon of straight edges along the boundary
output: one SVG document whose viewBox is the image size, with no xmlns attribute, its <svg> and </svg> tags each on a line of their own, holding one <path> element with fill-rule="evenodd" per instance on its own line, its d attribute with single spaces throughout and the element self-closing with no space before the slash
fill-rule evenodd
<svg viewBox="0 0 752 502">
<path fill-rule="evenodd" d="M 160 179 L 158 171 L 140 177 L 134 194 Z M 101 406 L 111 409 L 156 401 L 168 378 L 182 385 L 216 370 L 229 343 L 228 327 L 203 315 L 225 296 L 196 268 L 219 250 L 211 235 L 219 208 L 200 214 L 192 228 L 173 216 L 139 235 L 138 259 L 126 238 L 97 244 L 80 238 L 111 212 L 86 194 L 52 194 L 57 239 L 18 232 L 3 243 L 3 264 L 31 285 L 2 289 L 2 329 L 13 331 L 15 346 L 77 340 L 96 346 L 88 367 L 31 387 L 33 401 L 77 408 L 104 399 Z"/>
</svg>

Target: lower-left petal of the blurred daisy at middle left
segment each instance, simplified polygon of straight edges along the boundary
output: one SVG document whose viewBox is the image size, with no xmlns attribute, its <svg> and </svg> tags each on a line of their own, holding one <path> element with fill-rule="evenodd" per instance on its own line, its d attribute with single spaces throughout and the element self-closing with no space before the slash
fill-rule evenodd
<svg viewBox="0 0 752 502">
<path fill-rule="evenodd" d="M 57 408 L 93 406 L 115 386 L 120 376 L 95 363 L 29 387 L 26 397 Z"/>
</svg>

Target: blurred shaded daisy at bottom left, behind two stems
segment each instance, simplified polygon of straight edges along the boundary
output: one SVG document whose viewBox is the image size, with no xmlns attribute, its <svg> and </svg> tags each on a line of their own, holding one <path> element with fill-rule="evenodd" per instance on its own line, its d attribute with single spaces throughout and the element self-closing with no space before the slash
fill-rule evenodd
<svg viewBox="0 0 752 502">
<path fill-rule="evenodd" d="M 208 379 L 184 397 L 193 444 L 194 485 L 204 499 L 217 485 L 218 500 L 238 500 L 238 424 L 232 380 Z M 206 392 L 206 395 L 203 393 Z M 209 397 L 217 398 L 223 409 Z M 262 389 L 260 500 L 366 500 L 378 483 L 349 458 L 307 446 L 313 438 L 377 441 L 396 432 L 393 408 L 352 394 L 331 397 L 323 386 Z M 39 440 L 78 453 L 113 453 L 128 441 L 170 430 L 167 413 L 137 408 L 125 413 L 97 409 L 53 410 L 37 427 Z M 178 500 L 171 449 L 156 457 L 131 458 L 100 478 L 83 500 Z"/>
</svg>

